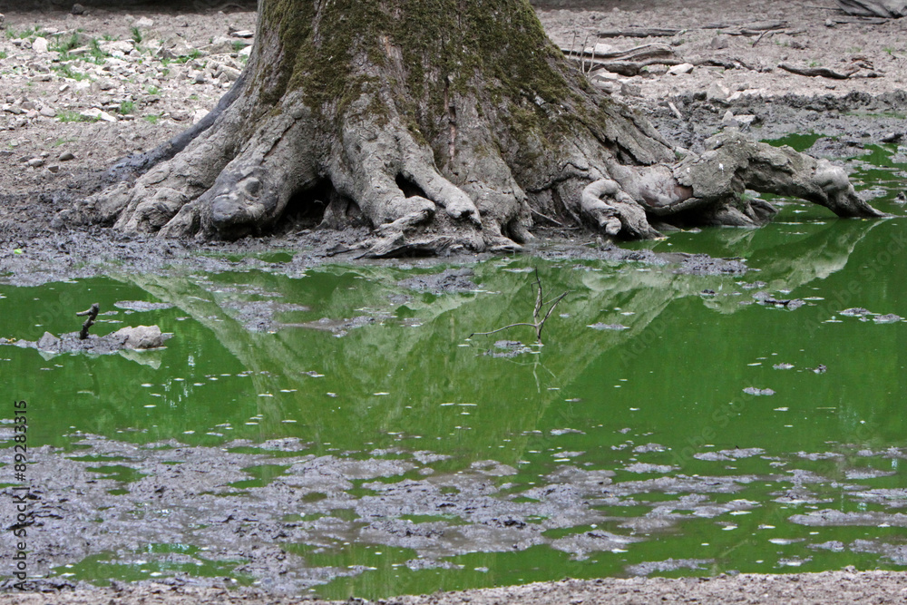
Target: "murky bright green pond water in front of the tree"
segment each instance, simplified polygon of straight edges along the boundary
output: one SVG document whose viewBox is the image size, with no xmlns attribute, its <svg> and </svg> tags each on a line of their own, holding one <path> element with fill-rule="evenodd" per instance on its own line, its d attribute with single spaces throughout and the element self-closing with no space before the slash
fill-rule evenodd
<svg viewBox="0 0 907 605">
<path fill-rule="evenodd" d="M 879 151 L 882 173 L 857 178 L 886 188 L 878 206 L 903 214 L 892 151 Z M 907 223 L 835 220 L 787 202 L 764 229 L 636 246 L 741 257 L 751 270 L 498 258 L 470 267 L 475 288 L 440 293 L 401 282 L 444 266 L 303 272 L 271 262 L 287 256 L 228 274 L 112 270 L 0 286 L 3 337 L 73 331 L 71 311 L 92 302 L 109 312 L 97 334 L 139 324 L 175 334 L 166 348 L 129 355 L 2 346 L 4 392 L 28 400 L 32 447 L 76 460 L 85 434 L 235 451 L 293 437 L 305 444 L 297 454 L 318 460 L 421 461 L 351 479 L 350 502 L 375 506 L 429 480 L 463 494 L 464 477 L 478 477 L 470 498 L 511 511 L 491 522 L 462 503 L 397 506 L 393 518 L 365 518 L 356 504 L 286 510 L 317 539 L 272 542 L 304 567 L 346 570 L 307 584 L 331 598 L 565 576 L 903 569 L 907 322 L 884 316 L 907 317 Z M 570 291 L 544 346 L 530 327 L 468 339 L 530 319 L 536 269 L 552 296 Z M 866 312 L 843 313 L 853 308 Z M 502 339 L 529 350 L 489 355 L 508 352 L 495 346 Z M 121 493 L 149 473 L 128 458 L 91 464 Z M 254 494 L 303 475 L 272 459 L 224 489 Z M 327 520 L 343 531 L 317 530 Z M 424 540 L 397 540 L 381 525 L 392 522 Z M 52 573 L 103 581 L 229 575 L 237 565 L 196 556 L 192 532 L 173 544 L 150 545 L 142 561 L 95 554 Z M 169 564 L 174 552 L 181 559 Z"/>
</svg>

